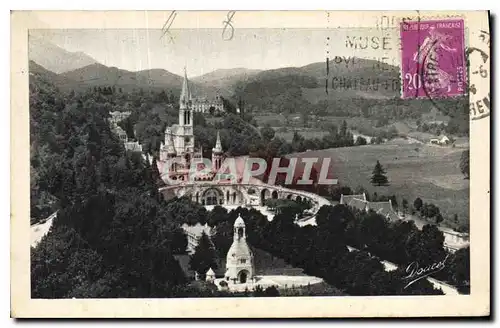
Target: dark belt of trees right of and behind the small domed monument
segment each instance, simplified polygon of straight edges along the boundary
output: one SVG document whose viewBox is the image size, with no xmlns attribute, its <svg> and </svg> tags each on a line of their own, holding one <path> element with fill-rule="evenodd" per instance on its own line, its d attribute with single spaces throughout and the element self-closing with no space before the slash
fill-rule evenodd
<svg viewBox="0 0 500 328">
<path fill-rule="evenodd" d="M 413 222 L 388 222 L 374 212 L 353 212 L 337 205 L 320 209 L 317 226 L 299 227 L 293 222 L 297 211 L 299 207 L 283 209 L 269 222 L 254 209 L 228 212 L 217 206 L 208 221 L 217 231 L 213 237 L 215 256 L 226 256 L 234 220 L 241 215 L 251 247 L 282 258 L 308 275 L 321 277 L 345 294 L 441 294 L 425 279 L 405 288 L 405 269 L 412 261 L 424 267 L 445 258 L 444 269 L 433 276 L 457 286 L 462 293 L 469 292 L 469 249 L 447 254 L 443 235 L 434 226 L 418 230 Z M 350 252 L 347 245 L 359 251 Z M 387 272 L 380 258 L 394 261 L 400 268 Z"/>
</svg>

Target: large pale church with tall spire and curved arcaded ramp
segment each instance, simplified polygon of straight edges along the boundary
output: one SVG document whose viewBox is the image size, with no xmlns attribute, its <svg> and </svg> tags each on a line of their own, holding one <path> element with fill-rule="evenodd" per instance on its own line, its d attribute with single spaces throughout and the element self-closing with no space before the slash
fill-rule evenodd
<svg viewBox="0 0 500 328">
<path fill-rule="evenodd" d="M 254 176 L 245 180 L 248 156 L 226 158 L 219 133 L 212 148 L 211 167 L 206 167 L 202 151 L 196 148 L 193 136 L 192 96 L 186 73 L 179 102 L 179 124 L 165 129 L 165 140 L 160 147 L 159 159 L 156 160 L 160 176 L 165 182 L 165 186 L 159 191 L 166 200 L 188 197 L 204 206 L 232 207 L 265 206 L 265 200 L 269 198 L 296 201 L 307 199 L 313 207 L 307 217 L 302 217 L 301 224 L 306 224 L 306 218 L 313 219 L 321 206 L 330 204 L 327 199 L 317 194 L 269 185 Z M 224 165 L 225 160 L 228 160 L 226 164 L 234 164 L 236 172 L 226 170 L 224 174 L 216 175 L 221 167 L 233 167 Z M 192 167 L 196 169 L 191 170 Z"/>
</svg>

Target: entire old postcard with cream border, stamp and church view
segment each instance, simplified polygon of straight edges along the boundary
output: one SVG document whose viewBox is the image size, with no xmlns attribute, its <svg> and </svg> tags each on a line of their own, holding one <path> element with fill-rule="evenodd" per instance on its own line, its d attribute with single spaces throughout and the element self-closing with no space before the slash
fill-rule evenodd
<svg viewBox="0 0 500 328">
<path fill-rule="evenodd" d="M 487 11 L 14 11 L 11 315 L 490 314 Z"/>
</svg>

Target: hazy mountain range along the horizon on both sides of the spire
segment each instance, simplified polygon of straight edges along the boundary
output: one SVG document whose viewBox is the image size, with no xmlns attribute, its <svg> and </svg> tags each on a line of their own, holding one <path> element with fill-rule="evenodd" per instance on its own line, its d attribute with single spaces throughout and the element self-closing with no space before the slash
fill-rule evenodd
<svg viewBox="0 0 500 328">
<path fill-rule="evenodd" d="M 182 77 L 164 69 L 132 72 L 108 67 L 84 53 L 69 52 L 31 37 L 29 49 L 30 72 L 45 76 L 62 90 L 115 86 L 124 91 L 180 92 Z M 327 78 L 328 93 L 325 92 Z M 337 88 L 339 84 L 332 85 L 335 79 L 358 83 L 358 87 Z M 270 70 L 218 69 L 191 78 L 191 85 L 195 97 L 211 98 L 220 94 L 233 100 L 242 97 L 248 104 L 261 106 L 278 98 L 300 98 L 300 102 L 313 104 L 338 98 L 393 98 L 399 96 L 399 88 L 381 86 L 384 83 L 392 85 L 399 79 L 399 68 L 396 66 L 352 58 L 349 65 L 330 61 L 328 74 L 326 62 Z"/>
</svg>

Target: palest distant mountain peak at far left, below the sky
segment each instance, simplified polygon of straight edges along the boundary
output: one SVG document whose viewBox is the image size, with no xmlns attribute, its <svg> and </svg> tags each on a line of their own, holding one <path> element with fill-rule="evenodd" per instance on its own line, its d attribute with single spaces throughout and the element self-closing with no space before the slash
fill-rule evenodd
<svg viewBox="0 0 500 328">
<path fill-rule="evenodd" d="M 28 58 L 54 73 L 78 69 L 97 61 L 83 52 L 70 52 L 34 35 L 29 36 Z"/>
</svg>

